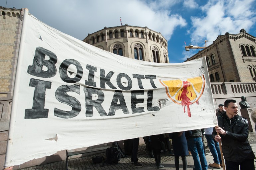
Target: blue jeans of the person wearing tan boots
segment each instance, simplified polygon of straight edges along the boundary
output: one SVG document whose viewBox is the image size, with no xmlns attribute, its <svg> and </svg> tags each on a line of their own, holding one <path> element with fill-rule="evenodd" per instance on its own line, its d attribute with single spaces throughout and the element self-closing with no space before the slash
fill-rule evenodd
<svg viewBox="0 0 256 170">
<path fill-rule="evenodd" d="M 212 139 L 212 135 L 211 134 L 205 134 L 205 137 L 206 137 L 206 140 L 207 140 L 207 143 L 208 143 L 208 147 L 209 147 L 209 149 L 211 151 L 211 154 L 213 156 L 213 161 L 216 164 L 222 164 L 221 155 L 220 155 L 220 149 L 219 149 L 219 143 L 215 142 Z"/>
</svg>

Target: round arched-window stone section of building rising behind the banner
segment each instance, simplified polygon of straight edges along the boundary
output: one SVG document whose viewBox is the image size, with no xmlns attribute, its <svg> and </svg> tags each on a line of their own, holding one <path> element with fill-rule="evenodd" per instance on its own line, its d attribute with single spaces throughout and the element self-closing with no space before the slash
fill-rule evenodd
<svg viewBox="0 0 256 170">
<path fill-rule="evenodd" d="M 147 27 L 105 27 L 88 34 L 83 42 L 125 57 L 169 63 L 167 40 Z"/>
</svg>

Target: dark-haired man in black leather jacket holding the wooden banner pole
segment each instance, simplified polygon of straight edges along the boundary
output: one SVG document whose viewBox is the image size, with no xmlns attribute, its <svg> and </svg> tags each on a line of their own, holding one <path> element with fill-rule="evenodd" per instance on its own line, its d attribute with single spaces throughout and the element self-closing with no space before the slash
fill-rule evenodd
<svg viewBox="0 0 256 170">
<path fill-rule="evenodd" d="M 235 100 L 226 100 L 224 106 L 226 112 L 217 117 L 218 126 L 213 129 L 212 137 L 222 143 L 226 170 L 238 170 L 239 165 L 241 170 L 254 170 L 255 155 L 247 139 L 248 121 L 237 115 Z"/>
</svg>

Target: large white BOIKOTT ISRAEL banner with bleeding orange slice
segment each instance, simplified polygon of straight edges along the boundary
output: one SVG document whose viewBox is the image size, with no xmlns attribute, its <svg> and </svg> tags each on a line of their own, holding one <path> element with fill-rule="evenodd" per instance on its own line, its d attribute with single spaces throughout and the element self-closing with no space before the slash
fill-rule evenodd
<svg viewBox="0 0 256 170">
<path fill-rule="evenodd" d="M 6 167 L 216 122 L 205 58 L 139 61 L 24 16 Z"/>
</svg>

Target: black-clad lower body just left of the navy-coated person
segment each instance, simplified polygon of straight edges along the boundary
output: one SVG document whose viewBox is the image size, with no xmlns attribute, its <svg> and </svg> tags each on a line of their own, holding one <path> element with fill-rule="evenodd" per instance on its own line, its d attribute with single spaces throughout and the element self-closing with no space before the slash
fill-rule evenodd
<svg viewBox="0 0 256 170">
<path fill-rule="evenodd" d="M 154 158 L 156 161 L 157 168 L 164 168 L 165 166 L 161 164 L 161 149 L 162 143 L 165 140 L 163 134 L 151 135 L 150 136 L 150 145 L 153 150 Z"/>
</svg>

